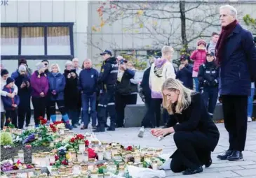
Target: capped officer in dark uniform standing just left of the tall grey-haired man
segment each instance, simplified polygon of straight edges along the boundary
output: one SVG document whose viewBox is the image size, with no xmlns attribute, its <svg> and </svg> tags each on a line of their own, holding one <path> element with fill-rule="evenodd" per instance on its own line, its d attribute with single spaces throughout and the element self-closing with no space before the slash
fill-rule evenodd
<svg viewBox="0 0 256 178">
<path fill-rule="evenodd" d="M 206 57 L 207 61 L 201 65 L 198 73 L 199 88 L 202 91 L 203 100 L 208 107 L 208 114 L 213 117 L 213 112 L 218 98 L 219 91 L 219 68 L 215 63 L 214 53 L 210 52 Z"/>
</svg>

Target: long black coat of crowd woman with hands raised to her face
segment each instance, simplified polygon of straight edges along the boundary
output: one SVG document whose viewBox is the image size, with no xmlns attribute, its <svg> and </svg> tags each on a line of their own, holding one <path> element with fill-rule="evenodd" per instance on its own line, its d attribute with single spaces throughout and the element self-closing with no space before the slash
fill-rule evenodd
<svg viewBox="0 0 256 178">
<path fill-rule="evenodd" d="M 66 79 L 66 85 L 64 89 L 64 99 L 65 99 L 65 108 L 67 110 L 75 110 L 79 105 L 79 89 L 78 89 L 78 81 L 79 77 L 76 74 L 76 78 L 70 77 L 68 78 L 67 75 L 69 73 L 74 72 L 76 73 L 76 70 L 72 69 L 71 71 L 65 70 L 63 75 Z"/>
</svg>

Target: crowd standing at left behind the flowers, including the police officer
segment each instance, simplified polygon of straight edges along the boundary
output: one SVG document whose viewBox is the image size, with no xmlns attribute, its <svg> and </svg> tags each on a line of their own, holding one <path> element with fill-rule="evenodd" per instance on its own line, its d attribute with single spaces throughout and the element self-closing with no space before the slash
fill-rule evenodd
<svg viewBox="0 0 256 178">
<path fill-rule="evenodd" d="M 10 122 L 20 129 L 29 126 L 31 101 L 36 127 L 45 114 L 48 122 L 56 121 L 56 105 L 69 129 L 81 123 L 81 129 L 87 129 L 90 122 L 95 131 L 123 127 L 124 108 L 137 102 L 135 68 L 121 56 L 112 57 L 109 50 L 101 55 L 100 73 L 90 59 L 85 59 L 80 68 L 77 58 L 65 63 L 64 73 L 58 64 L 49 65 L 48 60 L 36 64 L 32 73 L 27 60 L 20 59 L 11 77 L 8 70 L 1 67 L 1 128 Z M 111 119 L 110 126 L 107 126 L 107 117 Z"/>
</svg>

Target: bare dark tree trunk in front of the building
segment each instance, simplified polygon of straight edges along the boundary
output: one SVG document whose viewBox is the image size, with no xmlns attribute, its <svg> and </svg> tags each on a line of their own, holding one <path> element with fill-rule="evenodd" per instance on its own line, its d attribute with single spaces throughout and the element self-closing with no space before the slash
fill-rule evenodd
<svg viewBox="0 0 256 178">
<path fill-rule="evenodd" d="M 185 1 L 180 1 L 180 21 L 182 30 L 182 45 L 187 50 L 187 35 L 186 35 L 186 13 L 185 11 Z"/>
</svg>

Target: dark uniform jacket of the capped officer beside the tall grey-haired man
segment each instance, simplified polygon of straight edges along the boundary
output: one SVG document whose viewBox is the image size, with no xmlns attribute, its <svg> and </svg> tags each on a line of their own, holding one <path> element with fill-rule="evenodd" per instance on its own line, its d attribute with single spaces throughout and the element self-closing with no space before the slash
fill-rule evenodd
<svg viewBox="0 0 256 178">
<path fill-rule="evenodd" d="M 198 80 L 199 87 L 218 87 L 219 86 L 220 69 L 215 61 L 202 64 L 199 68 Z"/>
</svg>

